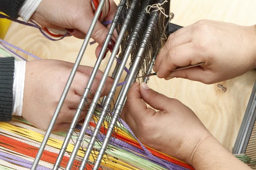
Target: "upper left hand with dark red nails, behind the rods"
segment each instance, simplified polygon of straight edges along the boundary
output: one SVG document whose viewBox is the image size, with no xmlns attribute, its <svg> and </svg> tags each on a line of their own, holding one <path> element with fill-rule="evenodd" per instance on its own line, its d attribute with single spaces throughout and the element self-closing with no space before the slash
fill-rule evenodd
<svg viewBox="0 0 256 170">
<path fill-rule="evenodd" d="M 110 11 L 104 18 L 105 21 L 113 19 L 117 8 L 113 0 L 109 0 L 109 3 Z M 67 30 L 74 37 L 84 39 L 94 17 L 93 12 L 91 0 L 43 0 L 32 15 L 32 20 L 47 28 L 59 30 L 68 28 Z M 103 45 L 107 34 L 108 28 L 98 21 L 92 34 L 93 40 Z M 112 40 L 109 48 L 112 48 L 114 43 Z"/>
</svg>

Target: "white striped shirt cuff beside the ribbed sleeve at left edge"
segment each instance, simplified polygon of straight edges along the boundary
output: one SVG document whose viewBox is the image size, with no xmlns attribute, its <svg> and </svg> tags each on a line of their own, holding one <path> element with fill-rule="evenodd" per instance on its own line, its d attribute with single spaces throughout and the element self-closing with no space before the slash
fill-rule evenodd
<svg viewBox="0 0 256 170">
<path fill-rule="evenodd" d="M 13 116 L 22 116 L 26 61 L 15 61 L 13 82 Z"/>
</svg>

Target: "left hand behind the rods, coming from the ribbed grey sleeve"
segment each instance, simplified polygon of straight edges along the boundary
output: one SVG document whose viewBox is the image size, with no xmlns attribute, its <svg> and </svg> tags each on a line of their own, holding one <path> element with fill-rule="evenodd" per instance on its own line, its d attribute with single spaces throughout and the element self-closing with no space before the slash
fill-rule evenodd
<svg viewBox="0 0 256 170">
<path fill-rule="evenodd" d="M 70 62 L 51 59 L 33 60 L 26 63 L 22 116 L 28 122 L 41 130 L 47 130 L 72 68 L 73 64 Z M 88 66 L 79 66 L 53 132 L 64 131 L 70 127 L 92 69 Z M 91 88 L 93 95 L 102 75 L 103 73 L 98 71 Z M 102 96 L 108 94 L 112 83 L 113 79 L 108 77 Z M 93 95 L 89 94 L 87 97 L 89 104 L 92 102 Z M 85 104 L 88 107 L 87 103 Z M 85 118 L 87 107 L 82 109 L 79 121 Z"/>
</svg>

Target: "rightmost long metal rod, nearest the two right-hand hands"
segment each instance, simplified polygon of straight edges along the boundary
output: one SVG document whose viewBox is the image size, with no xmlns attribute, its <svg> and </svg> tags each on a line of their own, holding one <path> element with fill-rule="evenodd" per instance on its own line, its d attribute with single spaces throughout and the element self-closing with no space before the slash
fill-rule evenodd
<svg viewBox="0 0 256 170">
<path fill-rule="evenodd" d="M 118 120 L 118 117 L 119 117 L 119 114 L 122 112 L 122 109 L 123 109 L 123 105 L 126 101 L 126 96 L 127 96 L 127 93 L 128 93 L 128 90 L 131 86 L 131 83 L 134 81 L 134 76 L 135 76 L 135 73 L 137 73 L 137 68 L 140 64 L 140 60 L 141 60 L 141 57 L 143 56 L 143 53 L 145 51 L 145 46 L 147 45 L 147 42 L 148 42 L 148 37 L 150 37 L 150 34 L 152 32 L 152 28 L 154 28 L 155 26 L 155 23 L 157 22 L 157 17 L 159 17 L 159 15 L 157 14 L 158 12 L 152 12 L 151 13 L 151 18 L 148 22 L 148 26 L 147 26 L 147 29 L 145 31 L 145 34 L 143 35 L 143 40 L 141 42 L 141 46 L 139 48 L 139 51 L 137 53 L 137 57 L 134 61 L 134 65 L 131 69 L 131 72 L 130 72 L 130 75 L 129 75 L 129 78 L 125 84 L 125 88 L 124 88 L 124 91 L 123 91 L 123 94 L 120 98 L 120 101 L 119 103 L 116 103 L 115 105 L 115 111 L 113 113 L 113 118 L 111 120 L 111 124 L 110 126 L 108 127 L 108 131 L 107 131 L 107 134 L 105 136 L 105 139 L 102 143 L 102 147 L 99 151 L 99 155 L 95 161 L 95 164 L 93 166 L 93 170 L 97 170 L 99 168 L 99 165 L 100 165 L 100 162 L 102 161 L 102 158 L 105 154 L 105 150 L 108 146 L 108 142 L 111 138 L 111 135 L 112 135 L 112 132 L 113 132 L 113 129 L 116 125 L 116 122 Z"/>
</svg>

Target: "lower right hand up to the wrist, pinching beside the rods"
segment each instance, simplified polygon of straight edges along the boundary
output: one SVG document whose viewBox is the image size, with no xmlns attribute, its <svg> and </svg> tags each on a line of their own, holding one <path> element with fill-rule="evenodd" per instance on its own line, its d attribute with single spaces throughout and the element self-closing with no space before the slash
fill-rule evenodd
<svg viewBox="0 0 256 170">
<path fill-rule="evenodd" d="M 145 83 L 131 86 L 121 118 L 143 144 L 186 162 L 195 146 L 212 136 L 192 110 Z"/>
</svg>

